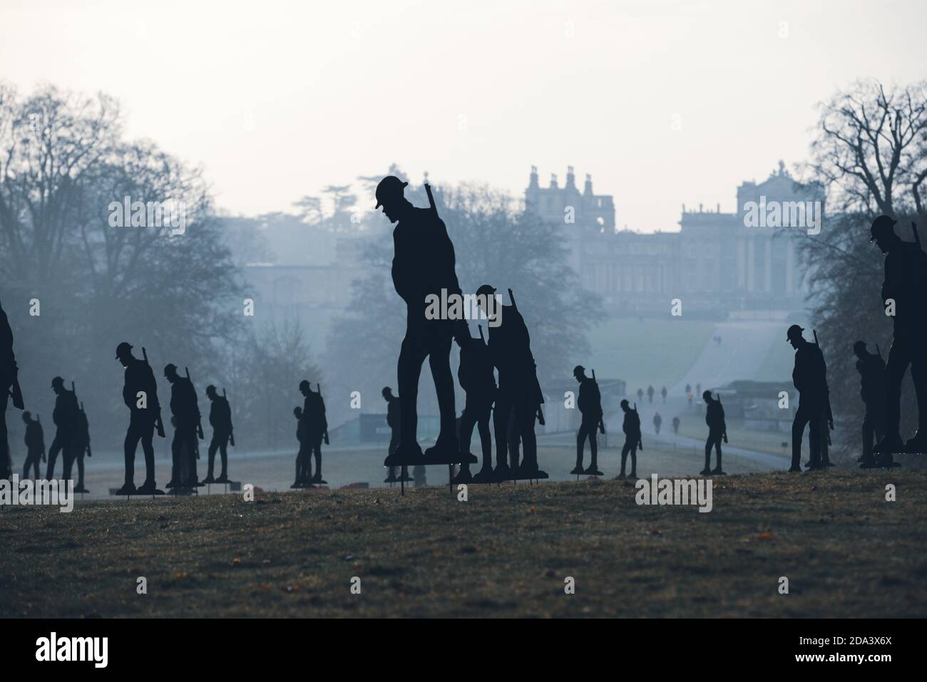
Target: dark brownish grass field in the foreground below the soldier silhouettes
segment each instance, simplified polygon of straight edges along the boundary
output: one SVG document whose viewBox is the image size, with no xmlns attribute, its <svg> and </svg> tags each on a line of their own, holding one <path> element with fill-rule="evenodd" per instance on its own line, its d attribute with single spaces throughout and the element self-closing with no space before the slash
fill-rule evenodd
<svg viewBox="0 0 927 682">
<path fill-rule="evenodd" d="M 622 481 L 12 507 L 0 615 L 923 617 L 925 490 L 831 471 L 717 480 L 710 513 Z"/>
</svg>

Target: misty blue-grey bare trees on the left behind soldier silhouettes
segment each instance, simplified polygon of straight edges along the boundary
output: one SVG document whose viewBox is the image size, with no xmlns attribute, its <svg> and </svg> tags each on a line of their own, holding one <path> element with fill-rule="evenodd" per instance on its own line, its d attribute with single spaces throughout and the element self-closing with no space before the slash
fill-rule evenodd
<svg viewBox="0 0 927 682">
<path fill-rule="evenodd" d="M 182 207 L 184 233 L 111 226 L 110 203 L 125 196 Z M 264 380 L 311 368 L 298 328 L 255 332 L 244 315 L 241 271 L 200 171 L 151 142 L 127 141 L 118 103 L 107 95 L 51 85 L 20 95 L 0 84 L 0 278 L 26 409 L 42 416 L 46 443 L 51 379 L 60 375 L 76 383 L 95 450 L 121 448 L 128 423 L 115 360 L 121 341 L 138 358 L 146 347 L 165 423 L 163 368 L 173 362 L 182 373 L 189 368 L 204 417 L 206 386 L 228 387 L 245 446 L 276 426 Z M 279 410 L 292 403 L 277 401 Z M 18 462 L 19 412 L 6 419 Z"/>
</svg>

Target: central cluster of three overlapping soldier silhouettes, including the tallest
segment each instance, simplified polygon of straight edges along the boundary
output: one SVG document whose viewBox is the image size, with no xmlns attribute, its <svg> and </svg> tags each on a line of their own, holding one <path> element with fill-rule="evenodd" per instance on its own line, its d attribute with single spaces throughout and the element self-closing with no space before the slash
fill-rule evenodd
<svg viewBox="0 0 927 682">
<path fill-rule="evenodd" d="M 394 471 L 394 467 L 460 463 L 459 482 L 546 478 L 547 474 L 538 467 L 534 434 L 535 420 L 543 423 L 540 406 L 544 398 L 531 353 L 530 335 L 514 296 L 510 290 L 511 305 L 503 306 L 497 303 L 496 289 L 489 284 L 476 289 L 480 308 L 489 319 L 489 341 L 483 339 L 482 333 L 479 338 L 471 337 L 464 319 L 426 318 L 426 297 L 461 296 L 462 290 L 457 280 L 451 237 L 444 221 L 438 217 L 431 188 L 425 183 L 430 207 L 415 208 L 403 196 L 407 184 L 389 175 L 377 184 L 375 192 L 375 208 L 383 208 L 387 219 L 396 223 L 392 279 L 407 310 L 406 333 L 397 365 L 399 442 L 384 464 Z M 488 298 L 492 299 L 491 304 Z M 454 342 L 460 347 L 458 379 L 466 394 L 459 438 L 451 373 Z M 417 402 L 425 358 L 435 382 L 440 427 L 435 445 L 423 452 L 417 437 Z M 498 385 L 494 369 L 499 372 Z M 496 436 L 495 467 L 492 466 L 489 437 L 490 413 Z M 520 462 L 509 460 L 507 436 L 511 420 L 521 440 Z M 472 474 L 470 464 L 477 461 L 470 453 L 475 426 L 482 443 L 483 462 L 480 470 Z"/>
</svg>

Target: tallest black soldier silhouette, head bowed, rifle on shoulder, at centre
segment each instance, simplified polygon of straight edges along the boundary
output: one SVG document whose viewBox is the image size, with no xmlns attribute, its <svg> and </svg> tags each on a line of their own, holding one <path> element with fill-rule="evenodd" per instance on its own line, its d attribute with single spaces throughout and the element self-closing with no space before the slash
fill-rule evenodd
<svg viewBox="0 0 927 682">
<path fill-rule="evenodd" d="M 400 444 L 385 464 L 451 463 L 458 456 L 455 430 L 454 380 L 451 375 L 451 339 L 466 333 L 464 320 L 425 319 L 425 297 L 461 294 L 454 271 L 454 246 L 444 222 L 434 208 L 415 208 L 403 196 L 408 183 L 387 175 L 376 186 L 376 207 L 393 230 L 392 276 L 396 293 L 406 303 L 406 334 L 398 365 L 400 391 Z M 427 185 L 425 186 L 427 189 Z M 430 195 L 430 189 L 429 195 Z M 462 326 L 464 327 L 462 329 Z M 425 452 L 418 445 L 418 380 L 428 359 L 438 394 L 440 431 L 434 446 Z"/>
</svg>

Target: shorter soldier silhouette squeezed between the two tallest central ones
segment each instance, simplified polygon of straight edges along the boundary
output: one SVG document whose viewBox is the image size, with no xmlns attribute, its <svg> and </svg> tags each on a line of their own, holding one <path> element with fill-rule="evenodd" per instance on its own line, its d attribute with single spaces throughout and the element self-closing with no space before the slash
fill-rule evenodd
<svg viewBox="0 0 927 682">
<path fill-rule="evenodd" d="M 461 417 L 460 447 L 462 457 L 460 474 L 455 483 L 489 483 L 493 480 L 492 471 L 492 436 L 489 433 L 489 415 L 492 402 L 496 399 L 496 377 L 493 373 L 492 356 L 489 347 L 482 338 L 458 335 L 457 344 L 461 348 L 460 367 L 457 379 L 466 393 L 464 415 Z M 470 474 L 470 442 L 473 427 L 479 432 L 479 442 L 483 450 L 483 466 L 476 475 Z"/>
</svg>

